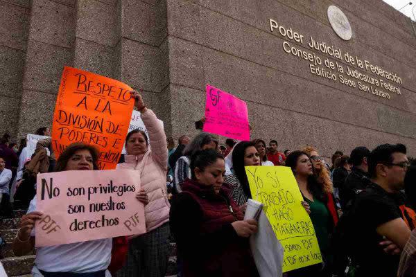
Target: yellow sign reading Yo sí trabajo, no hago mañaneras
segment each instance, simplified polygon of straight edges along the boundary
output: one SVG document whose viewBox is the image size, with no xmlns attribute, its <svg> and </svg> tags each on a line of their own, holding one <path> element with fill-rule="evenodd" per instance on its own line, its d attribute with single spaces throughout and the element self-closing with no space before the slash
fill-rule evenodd
<svg viewBox="0 0 416 277">
<path fill-rule="evenodd" d="M 247 166 L 252 198 L 263 210 L 284 248 L 283 272 L 322 262 L 318 239 L 291 168 Z"/>
</svg>

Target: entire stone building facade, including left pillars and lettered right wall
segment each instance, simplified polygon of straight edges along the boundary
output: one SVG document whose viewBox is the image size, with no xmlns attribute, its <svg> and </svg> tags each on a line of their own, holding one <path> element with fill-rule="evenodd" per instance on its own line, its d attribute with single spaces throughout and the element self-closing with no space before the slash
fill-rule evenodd
<svg viewBox="0 0 416 277">
<path fill-rule="evenodd" d="M 334 33 L 330 5 L 349 19 L 351 40 Z M 198 133 L 194 121 L 204 114 L 209 83 L 245 100 L 252 137 L 277 139 L 282 150 L 311 144 L 330 157 L 356 145 L 401 142 L 416 155 L 416 37 L 410 19 L 381 0 L 0 0 L 0 6 L 0 129 L 14 136 L 51 125 L 69 65 L 142 89 L 174 138 Z M 305 42 L 272 32 L 269 19 Z M 312 74 L 309 61 L 284 52 L 284 42 L 376 77 L 312 50 L 310 36 L 397 73 L 401 94 L 390 92 L 389 100 Z"/>
</svg>

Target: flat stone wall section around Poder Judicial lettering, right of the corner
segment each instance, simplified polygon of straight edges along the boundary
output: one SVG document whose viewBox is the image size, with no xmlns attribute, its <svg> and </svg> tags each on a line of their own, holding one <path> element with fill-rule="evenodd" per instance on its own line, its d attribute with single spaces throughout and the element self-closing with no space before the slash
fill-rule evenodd
<svg viewBox="0 0 416 277">
<path fill-rule="evenodd" d="M 348 42 L 329 24 L 330 5 L 349 19 Z M 283 42 L 330 56 L 271 32 L 269 19 L 395 71 L 401 95 L 386 100 L 311 74 L 309 62 L 285 53 Z M 201 115 L 209 83 L 247 101 L 252 137 L 277 139 L 281 150 L 311 144 L 331 157 L 357 145 L 401 142 L 416 155 L 415 33 L 410 19 L 382 1 L 168 1 L 168 45 L 172 97 L 185 99 L 171 107 L 174 136 L 193 129 L 180 118 Z"/>
</svg>

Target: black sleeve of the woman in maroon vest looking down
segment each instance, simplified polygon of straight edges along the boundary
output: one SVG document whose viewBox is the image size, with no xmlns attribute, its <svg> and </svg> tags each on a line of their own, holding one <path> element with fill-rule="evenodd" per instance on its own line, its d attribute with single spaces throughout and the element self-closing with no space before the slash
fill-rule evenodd
<svg viewBox="0 0 416 277">
<path fill-rule="evenodd" d="M 224 224 L 210 233 L 201 232 L 202 211 L 198 203 L 187 193 L 175 197 L 171 206 L 171 231 L 182 255 L 204 251 L 220 251 L 230 241 L 238 237 L 232 224 Z"/>
</svg>

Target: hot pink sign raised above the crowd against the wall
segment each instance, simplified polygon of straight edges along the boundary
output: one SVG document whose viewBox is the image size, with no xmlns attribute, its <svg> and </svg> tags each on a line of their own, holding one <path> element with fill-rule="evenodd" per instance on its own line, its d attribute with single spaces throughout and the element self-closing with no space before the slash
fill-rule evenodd
<svg viewBox="0 0 416 277">
<path fill-rule="evenodd" d="M 250 141 L 247 105 L 232 94 L 207 84 L 204 132 Z"/>
</svg>

